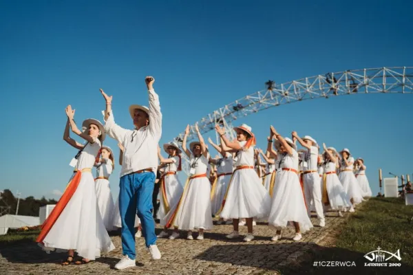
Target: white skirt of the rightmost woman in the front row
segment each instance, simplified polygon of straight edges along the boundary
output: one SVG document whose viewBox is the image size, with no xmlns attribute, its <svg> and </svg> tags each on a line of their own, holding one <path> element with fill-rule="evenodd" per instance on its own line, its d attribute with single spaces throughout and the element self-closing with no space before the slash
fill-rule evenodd
<svg viewBox="0 0 413 275">
<path fill-rule="evenodd" d="M 273 203 L 268 225 L 277 229 L 286 228 L 288 221 L 299 223 L 301 233 L 313 228 L 307 214 L 304 195 L 298 175 L 292 171 L 281 170 L 275 177 Z"/>
</svg>

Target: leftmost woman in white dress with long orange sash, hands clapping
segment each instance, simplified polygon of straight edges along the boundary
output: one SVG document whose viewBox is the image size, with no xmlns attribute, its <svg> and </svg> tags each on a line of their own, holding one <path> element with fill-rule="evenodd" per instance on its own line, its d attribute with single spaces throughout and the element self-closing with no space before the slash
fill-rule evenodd
<svg viewBox="0 0 413 275">
<path fill-rule="evenodd" d="M 114 250 L 96 201 L 92 167 L 105 140 L 103 125 L 94 119 L 83 121 L 84 132 L 74 122 L 74 110 L 66 108 L 67 123 L 63 139 L 80 151 L 71 164 L 75 167 L 61 199 L 42 225 L 36 242 L 46 251 L 67 251 L 62 265 L 74 261 L 74 252 L 83 257 L 76 264 L 89 263 L 100 256 L 100 252 Z M 72 132 L 87 141 L 86 145 L 76 142 L 69 135 Z"/>
</svg>

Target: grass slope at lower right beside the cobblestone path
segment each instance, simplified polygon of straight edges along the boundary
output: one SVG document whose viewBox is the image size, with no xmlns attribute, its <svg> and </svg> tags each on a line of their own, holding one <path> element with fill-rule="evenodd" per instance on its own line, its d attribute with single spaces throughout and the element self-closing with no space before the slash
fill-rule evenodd
<svg viewBox="0 0 413 275">
<path fill-rule="evenodd" d="M 348 217 L 343 228 L 333 232 L 323 246 L 317 246 L 295 266 L 280 270 L 282 274 L 413 274 L 413 206 L 396 198 L 371 198 Z M 401 267 L 369 267 L 364 255 L 385 250 L 400 250 Z M 387 258 L 387 256 L 386 256 Z M 354 261 L 356 267 L 315 267 L 315 261 Z"/>
</svg>

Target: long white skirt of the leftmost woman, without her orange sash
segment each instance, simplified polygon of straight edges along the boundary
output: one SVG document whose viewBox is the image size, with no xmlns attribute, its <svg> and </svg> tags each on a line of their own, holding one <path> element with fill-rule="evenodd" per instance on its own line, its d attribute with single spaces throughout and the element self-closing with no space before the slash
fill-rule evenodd
<svg viewBox="0 0 413 275">
<path fill-rule="evenodd" d="M 100 252 L 114 250 L 96 201 L 92 173 L 82 173 L 81 181 L 58 219 L 43 239 L 43 249 L 63 252 L 76 250 L 79 256 L 94 260 Z"/>
</svg>

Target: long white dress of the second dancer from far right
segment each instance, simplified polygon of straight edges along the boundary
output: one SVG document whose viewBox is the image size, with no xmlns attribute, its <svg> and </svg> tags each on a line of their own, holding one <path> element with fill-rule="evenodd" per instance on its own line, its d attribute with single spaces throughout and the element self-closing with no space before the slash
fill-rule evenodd
<svg viewBox="0 0 413 275">
<path fill-rule="evenodd" d="M 341 162 L 341 171 L 339 174 L 339 179 L 341 184 L 343 184 L 344 191 L 347 193 L 348 197 L 353 199 L 354 204 L 359 204 L 363 201 L 363 195 L 359 183 L 354 176 L 352 170 L 352 163 L 354 163 L 354 158 L 349 157 L 347 162 L 350 163 L 349 166 L 344 166 L 344 162 Z"/>
</svg>

